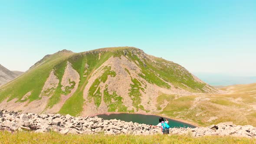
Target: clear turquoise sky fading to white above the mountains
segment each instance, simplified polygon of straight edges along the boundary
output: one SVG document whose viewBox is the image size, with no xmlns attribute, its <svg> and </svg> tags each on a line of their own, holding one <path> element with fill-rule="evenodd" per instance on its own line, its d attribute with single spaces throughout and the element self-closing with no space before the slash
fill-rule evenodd
<svg viewBox="0 0 256 144">
<path fill-rule="evenodd" d="M 0 0 L 0 64 L 135 46 L 190 72 L 256 76 L 256 0 Z"/>
</svg>

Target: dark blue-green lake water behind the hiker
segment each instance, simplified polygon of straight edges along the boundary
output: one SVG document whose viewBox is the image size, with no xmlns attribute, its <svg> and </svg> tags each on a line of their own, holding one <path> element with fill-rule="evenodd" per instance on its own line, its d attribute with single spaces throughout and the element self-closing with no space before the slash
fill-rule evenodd
<svg viewBox="0 0 256 144">
<path fill-rule="evenodd" d="M 141 114 L 111 114 L 111 115 L 97 115 L 99 118 L 103 118 L 105 120 L 117 119 L 121 121 L 127 122 L 137 122 L 139 124 L 152 124 L 157 125 L 159 123 L 159 116 L 156 115 L 141 115 Z M 167 118 L 169 121 L 169 126 L 171 128 L 195 128 L 195 126 L 191 124 L 186 124 L 180 121 L 175 121 L 172 119 Z M 164 118 L 165 120 L 165 118 Z"/>
</svg>

